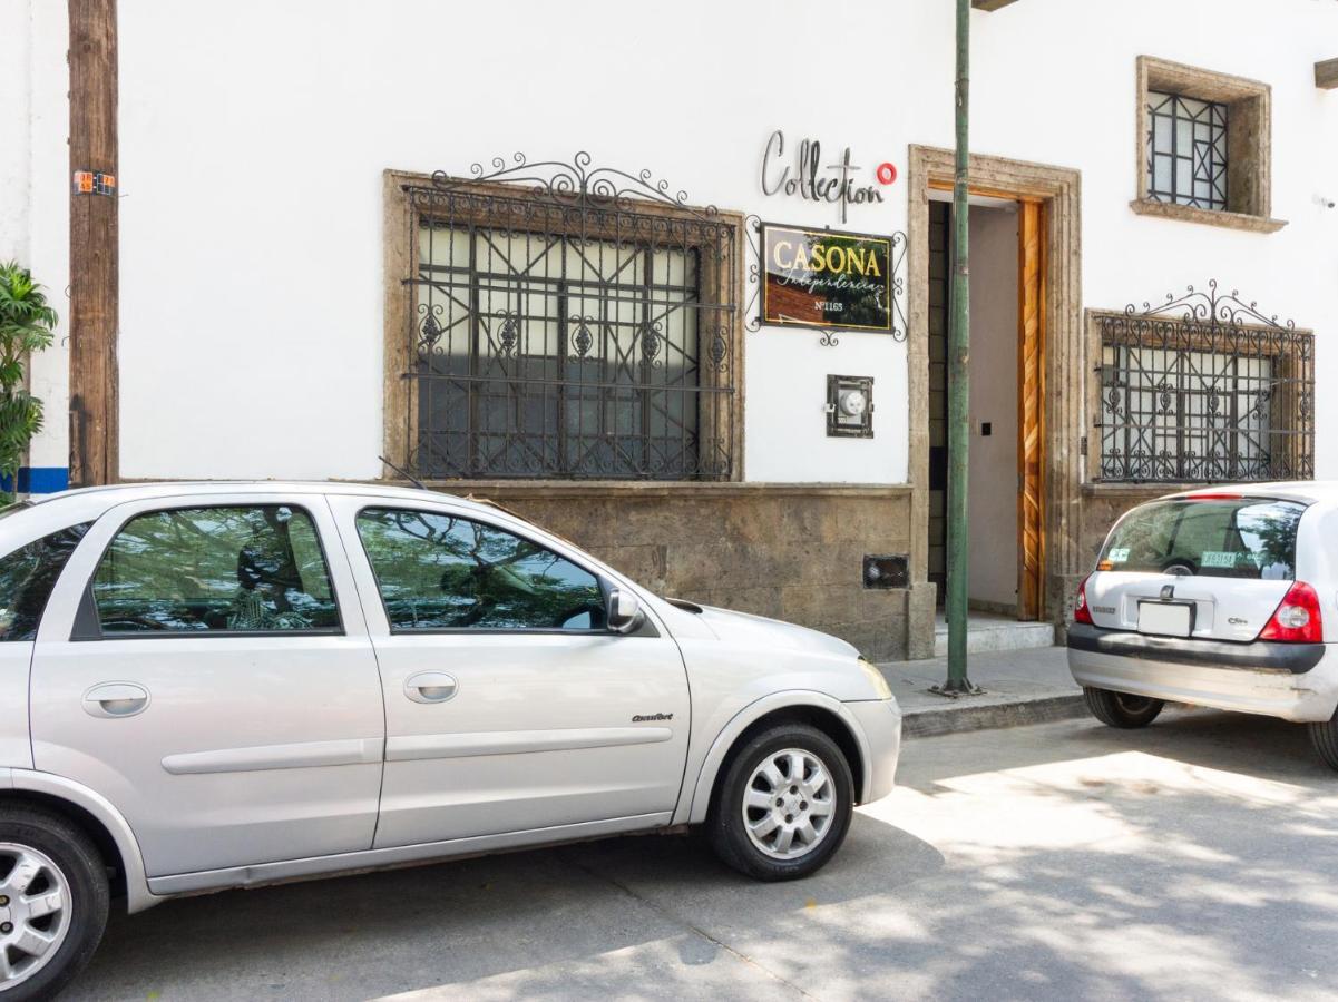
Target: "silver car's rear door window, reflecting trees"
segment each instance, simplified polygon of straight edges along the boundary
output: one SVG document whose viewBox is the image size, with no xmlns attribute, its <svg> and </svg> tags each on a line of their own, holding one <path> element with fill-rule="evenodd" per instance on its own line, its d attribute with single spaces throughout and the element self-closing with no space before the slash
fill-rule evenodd
<svg viewBox="0 0 1338 1002">
<path fill-rule="evenodd" d="M 312 516 L 289 504 L 136 515 L 92 579 L 104 637 L 339 631 Z"/>
</svg>

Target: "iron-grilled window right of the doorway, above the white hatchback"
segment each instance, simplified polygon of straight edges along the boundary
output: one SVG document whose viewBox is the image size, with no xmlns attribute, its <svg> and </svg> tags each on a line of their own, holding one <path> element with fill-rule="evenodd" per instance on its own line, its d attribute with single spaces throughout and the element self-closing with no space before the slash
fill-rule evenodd
<svg viewBox="0 0 1338 1002">
<path fill-rule="evenodd" d="M 1314 336 L 1232 289 L 1096 313 L 1100 479 L 1314 476 Z"/>
</svg>

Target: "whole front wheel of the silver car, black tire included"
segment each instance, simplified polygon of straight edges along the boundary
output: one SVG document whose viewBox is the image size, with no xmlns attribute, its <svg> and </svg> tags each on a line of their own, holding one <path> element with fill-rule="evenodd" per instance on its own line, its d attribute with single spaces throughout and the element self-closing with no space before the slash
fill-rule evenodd
<svg viewBox="0 0 1338 1002">
<path fill-rule="evenodd" d="M 741 874 L 795 880 L 835 855 L 854 807 L 855 781 L 836 742 L 807 724 L 777 724 L 731 756 L 712 797 L 706 836 L 716 855 Z"/>
</svg>

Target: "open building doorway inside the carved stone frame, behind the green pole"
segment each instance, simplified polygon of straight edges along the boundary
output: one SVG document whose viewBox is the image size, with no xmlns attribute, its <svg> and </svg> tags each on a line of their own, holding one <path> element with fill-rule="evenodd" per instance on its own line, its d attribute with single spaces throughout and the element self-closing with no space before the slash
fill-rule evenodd
<svg viewBox="0 0 1338 1002">
<path fill-rule="evenodd" d="M 929 202 L 929 579 L 942 605 L 947 544 L 951 193 Z M 1042 618 L 1045 566 L 1044 203 L 973 194 L 970 213 L 970 606 Z"/>
</svg>

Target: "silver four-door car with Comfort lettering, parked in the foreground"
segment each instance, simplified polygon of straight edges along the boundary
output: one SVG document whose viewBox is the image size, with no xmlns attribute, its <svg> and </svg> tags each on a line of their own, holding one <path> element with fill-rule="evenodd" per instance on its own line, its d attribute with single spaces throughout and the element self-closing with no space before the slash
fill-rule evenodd
<svg viewBox="0 0 1338 1002">
<path fill-rule="evenodd" d="M 892 788 L 848 643 L 658 598 L 535 526 L 359 484 L 136 484 L 0 515 L 0 993 L 110 899 L 705 825 L 804 876 Z"/>
</svg>

